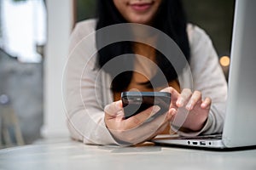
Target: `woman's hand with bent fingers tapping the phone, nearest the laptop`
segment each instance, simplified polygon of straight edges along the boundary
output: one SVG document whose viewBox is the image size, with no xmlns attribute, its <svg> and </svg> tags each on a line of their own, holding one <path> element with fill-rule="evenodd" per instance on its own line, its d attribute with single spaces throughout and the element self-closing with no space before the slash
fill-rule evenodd
<svg viewBox="0 0 256 170">
<path fill-rule="evenodd" d="M 176 110 L 176 115 L 173 117 L 180 116 L 181 119 L 185 119 L 183 121 L 177 121 L 182 122 L 182 125 L 174 124 L 174 126 L 182 126 L 191 131 L 200 131 L 204 127 L 212 105 L 212 99 L 208 97 L 202 99 L 201 92 L 195 91 L 192 93 L 189 88 L 184 88 L 181 94 L 171 87 L 161 91 L 172 94 L 169 111 Z"/>
</svg>

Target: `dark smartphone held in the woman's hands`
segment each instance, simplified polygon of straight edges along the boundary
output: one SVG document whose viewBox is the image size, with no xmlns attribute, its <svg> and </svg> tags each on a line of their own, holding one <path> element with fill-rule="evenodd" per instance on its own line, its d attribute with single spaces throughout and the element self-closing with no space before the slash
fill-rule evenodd
<svg viewBox="0 0 256 170">
<path fill-rule="evenodd" d="M 154 116 L 159 116 L 169 110 L 171 94 L 167 92 L 123 92 L 121 99 L 125 112 L 125 119 L 145 111 L 148 107 L 159 105 L 160 111 Z"/>
</svg>

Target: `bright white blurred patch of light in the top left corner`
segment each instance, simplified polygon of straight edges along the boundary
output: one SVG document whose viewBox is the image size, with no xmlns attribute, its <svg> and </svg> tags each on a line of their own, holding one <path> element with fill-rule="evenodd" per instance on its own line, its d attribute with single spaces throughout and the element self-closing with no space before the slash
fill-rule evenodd
<svg viewBox="0 0 256 170">
<path fill-rule="evenodd" d="M 44 0 L 0 0 L 0 48 L 21 62 L 40 62 L 46 42 Z"/>
</svg>

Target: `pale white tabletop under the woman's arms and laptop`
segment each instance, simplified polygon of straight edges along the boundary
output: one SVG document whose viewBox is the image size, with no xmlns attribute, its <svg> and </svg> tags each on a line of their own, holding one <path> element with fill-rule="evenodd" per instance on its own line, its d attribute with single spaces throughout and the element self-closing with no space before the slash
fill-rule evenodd
<svg viewBox="0 0 256 170">
<path fill-rule="evenodd" d="M 119 148 L 62 139 L 0 150 L 0 169 L 255 170 L 256 150 L 220 152 L 152 144 Z"/>
</svg>

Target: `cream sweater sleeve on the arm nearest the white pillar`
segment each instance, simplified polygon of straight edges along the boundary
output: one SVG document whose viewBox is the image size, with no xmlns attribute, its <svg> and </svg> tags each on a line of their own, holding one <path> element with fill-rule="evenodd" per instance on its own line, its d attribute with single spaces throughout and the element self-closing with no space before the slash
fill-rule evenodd
<svg viewBox="0 0 256 170">
<path fill-rule="evenodd" d="M 118 144 L 104 122 L 102 74 L 96 69 L 95 20 L 75 26 L 65 77 L 67 127 L 71 137 L 85 144 Z M 96 81 L 99 80 L 99 81 Z"/>
</svg>

